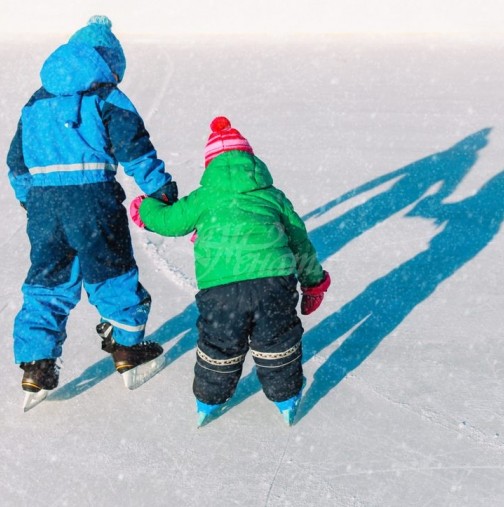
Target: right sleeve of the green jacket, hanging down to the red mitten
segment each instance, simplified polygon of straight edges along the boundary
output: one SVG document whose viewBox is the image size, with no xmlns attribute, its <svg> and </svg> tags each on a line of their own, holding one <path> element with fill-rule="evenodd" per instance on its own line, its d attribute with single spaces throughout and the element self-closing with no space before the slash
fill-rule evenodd
<svg viewBox="0 0 504 507">
<path fill-rule="evenodd" d="M 296 258 L 299 282 L 305 287 L 317 285 L 324 276 L 322 265 L 317 259 L 317 252 L 308 237 L 303 220 L 285 195 L 282 194 L 282 197 L 283 225 L 289 238 L 289 247 Z"/>
</svg>

